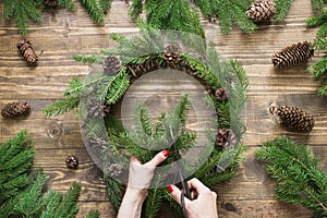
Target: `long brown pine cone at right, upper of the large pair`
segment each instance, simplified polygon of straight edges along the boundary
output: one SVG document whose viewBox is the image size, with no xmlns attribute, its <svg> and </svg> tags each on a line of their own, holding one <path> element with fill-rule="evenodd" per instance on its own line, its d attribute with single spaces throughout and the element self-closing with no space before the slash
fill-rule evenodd
<svg viewBox="0 0 327 218">
<path fill-rule="evenodd" d="M 283 48 L 272 56 L 274 66 L 289 68 L 306 62 L 314 55 L 311 43 L 303 41 Z"/>
</svg>

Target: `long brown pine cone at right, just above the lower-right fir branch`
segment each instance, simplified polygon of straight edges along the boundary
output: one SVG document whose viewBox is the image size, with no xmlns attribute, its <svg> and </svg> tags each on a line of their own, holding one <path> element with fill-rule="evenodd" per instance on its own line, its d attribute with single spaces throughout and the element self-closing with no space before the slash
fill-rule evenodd
<svg viewBox="0 0 327 218">
<path fill-rule="evenodd" d="M 290 106 L 278 107 L 275 104 L 269 108 L 271 114 L 279 118 L 280 123 L 284 123 L 289 129 L 299 132 L 311 132 L 315 125 L 312 114 L 302 109 Z"/>
</svg>

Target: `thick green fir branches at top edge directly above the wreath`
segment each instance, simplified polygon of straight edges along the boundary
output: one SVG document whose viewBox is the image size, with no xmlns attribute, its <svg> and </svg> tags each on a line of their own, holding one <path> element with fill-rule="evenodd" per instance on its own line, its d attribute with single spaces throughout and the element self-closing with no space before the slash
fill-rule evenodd
<svg viewBox="0 0 327 218">
<path fill-rule="evenodd" d="M 196 11 L 185 0 L 148 0 L 143 7 L 141 0 L 133 0 L 130 15 L 137 20 L 142 11 L 146 12 L 146 23 L 159 29 L 172 29 L 205 37 Z"/>
</svg>

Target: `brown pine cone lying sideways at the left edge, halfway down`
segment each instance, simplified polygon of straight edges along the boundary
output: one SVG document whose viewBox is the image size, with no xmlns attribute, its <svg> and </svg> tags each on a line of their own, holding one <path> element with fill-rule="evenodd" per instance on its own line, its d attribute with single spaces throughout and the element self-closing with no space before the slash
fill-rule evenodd
<svg viewBox="0 0 327 218">
<path fill-rule="evenodd" d="M 3 118 L 17 118 L 27 116 L 31 110 L 31 106 L 27 102 L 10 102 L 1 110 Z"/>
</svg>

